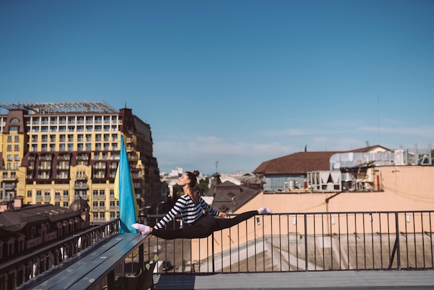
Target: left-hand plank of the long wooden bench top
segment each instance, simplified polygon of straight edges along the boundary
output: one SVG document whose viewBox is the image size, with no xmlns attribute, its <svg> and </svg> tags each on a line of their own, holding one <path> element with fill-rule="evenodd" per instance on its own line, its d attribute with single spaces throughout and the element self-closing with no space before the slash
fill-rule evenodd
<svg viewBox="0 0 434 290">
<path fill-rule="evenodd" d="M 130 243 L 137 236 L 141 236 L 141 234 L 118 234 L 112 237 L 112 239 L 95 250 L 92 250 L 91 253 L 81 258 L 76 263 L 71 264 L 59 273 L 53 275 L 53 277 L 39 284 L 36 289 L 67 289 L 69 285 L 83 278 L 89 271 L 98 268 L 107 258 L 115 255 L 118 250 L 121 250 L 125 246 L 127 246 L 127 248 L 134 248 L 134 245 Z"/>
</svg>

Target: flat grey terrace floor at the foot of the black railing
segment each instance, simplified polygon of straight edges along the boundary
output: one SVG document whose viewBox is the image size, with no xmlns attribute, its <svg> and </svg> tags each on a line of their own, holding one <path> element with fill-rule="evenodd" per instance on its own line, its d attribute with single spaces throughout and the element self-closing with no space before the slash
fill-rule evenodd
<svg viewBox="0 0 434 290">
<path fill-rule="evenodd" d="M 155 289 L 434 289 L 434 270 L 162 274 Z"/>
</svg>

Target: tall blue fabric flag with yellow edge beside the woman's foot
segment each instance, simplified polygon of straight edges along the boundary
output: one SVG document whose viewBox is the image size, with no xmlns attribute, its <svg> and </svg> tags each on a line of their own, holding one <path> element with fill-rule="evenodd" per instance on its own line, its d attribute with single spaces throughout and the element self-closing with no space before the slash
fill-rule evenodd
<svg viewBox="0 0 434 290">
<path fill-rule="evenodd" d="M 132 187 L 130 164 L 128 164 L 128 155 L 123 143 L 123 135 L 121 135 L 119 166 L 114 178 L 114 197 L 119 199 L 119 219 L 121 219 L 119 233 L 137 232 L 131 225 L 136 223 L 139 207 L 137 207 L 136 194 L 134 194 L 134 187 Z"/>
</svg>

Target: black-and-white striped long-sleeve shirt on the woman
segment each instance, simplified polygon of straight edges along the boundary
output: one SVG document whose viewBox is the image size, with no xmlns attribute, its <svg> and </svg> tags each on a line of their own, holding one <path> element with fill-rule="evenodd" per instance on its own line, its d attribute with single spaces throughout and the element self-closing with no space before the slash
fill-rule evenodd
<svg viewBox="0 0 434 290">
<path fill-rule="evenodd" d="M 214 216 L 218 215 L 218 210 L 207 204 L 203 200 L 202 196 L 199 196 L 199 203 L 196 205 L 196 203 L 194 203 L 193 199 L 191 199 L 188 194 L 184 194 L 177 199 L 172 209 L 165 216 L 163 216 L 163 218 L 154 226 L 154 228 L 165 228 L 165 226 L 173 221 L 175 216 L 178 214 L 181 214 L 184 223 L 194 223 L 200 218 L 200 216 L 202 216 L 202 214 L 204 214 L 204 210 L 213 214 Z"/>
</svg>

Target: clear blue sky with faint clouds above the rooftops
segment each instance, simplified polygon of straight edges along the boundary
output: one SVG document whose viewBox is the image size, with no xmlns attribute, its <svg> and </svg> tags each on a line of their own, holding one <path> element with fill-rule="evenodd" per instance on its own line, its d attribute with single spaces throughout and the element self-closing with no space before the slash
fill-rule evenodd
<svg viewBox="0 0 434 290">
<path fill-rule="evenodd" d="M 160 171 L 428 148 L 433 15 L 432 0 L 3 0 L 0 102 L 126 103 Z"/>
</svg>

